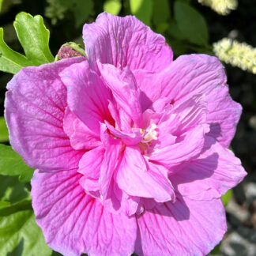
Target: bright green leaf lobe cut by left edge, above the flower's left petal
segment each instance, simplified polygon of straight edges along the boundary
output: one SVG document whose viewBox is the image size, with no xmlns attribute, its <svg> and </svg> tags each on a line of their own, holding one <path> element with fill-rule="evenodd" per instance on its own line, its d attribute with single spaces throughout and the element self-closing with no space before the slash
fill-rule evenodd
<svg viewBox="0 0 256 256">
<path fill-rule="evenodd" d="M 24 66 L 31 66 L 24 55 L 13 51 L 3 40 L 3 29 L 0 28 L 0 70 L 7 73 L 17 73 Z"/>
</svg>

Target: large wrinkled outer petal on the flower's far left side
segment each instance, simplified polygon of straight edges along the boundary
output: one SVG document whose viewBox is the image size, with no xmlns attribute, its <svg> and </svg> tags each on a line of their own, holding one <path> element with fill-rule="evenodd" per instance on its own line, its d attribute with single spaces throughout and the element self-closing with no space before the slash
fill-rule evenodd
<svg viewBox="0 0 256 256">
<path fill-rule="evenodd" d="M 5 116 L 10 144 L 32 168 L 52 171 L 77 167 L 82 152 L 73 150 L 63 130 L 66 86 L 59 73 L 84 59 L 24 68 L 7 85 Z"/>
</svg>

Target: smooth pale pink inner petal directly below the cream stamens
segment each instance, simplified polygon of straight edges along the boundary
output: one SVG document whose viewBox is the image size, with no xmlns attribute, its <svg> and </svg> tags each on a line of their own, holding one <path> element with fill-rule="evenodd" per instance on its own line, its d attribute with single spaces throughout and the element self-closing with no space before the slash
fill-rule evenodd
<svg viewBox="0 0 256 256">
<path fill-rule="evenodd" d="M 175 200 L 168 178 L 156 167 L 147 166 L 137 146 L 126 146 L 117 169 L 116 182 L 131 196 L 154 198 L 156 201 Z"/>
</svg>

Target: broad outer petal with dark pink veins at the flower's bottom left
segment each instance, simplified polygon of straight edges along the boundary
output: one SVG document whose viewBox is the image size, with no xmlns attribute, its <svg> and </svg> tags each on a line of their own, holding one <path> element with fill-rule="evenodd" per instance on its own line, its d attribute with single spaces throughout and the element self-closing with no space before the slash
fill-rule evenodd
<svg viewBox="0 0 256 256">
<path fill-rule="evenodd" d="M 32 179 L 32 206 L 47 244 L 66 256 L 129 255 L 137 224 L 133 217 L 109 213 L 85 194 L 77 171 L 41 173 Z"/>
</svg>

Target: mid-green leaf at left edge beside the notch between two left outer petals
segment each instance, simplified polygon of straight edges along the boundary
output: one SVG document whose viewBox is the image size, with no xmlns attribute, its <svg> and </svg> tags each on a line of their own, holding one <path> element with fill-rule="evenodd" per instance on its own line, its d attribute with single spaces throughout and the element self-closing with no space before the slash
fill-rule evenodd
<svg viewBox="0 0 256 256">
<path fill-rule="evenodd" d="M 0 174 L 19 175 L 21 182 L 28 182 L 32 178 L 33 169 L 10 146 L 0 144 Z"/>
</svg>

